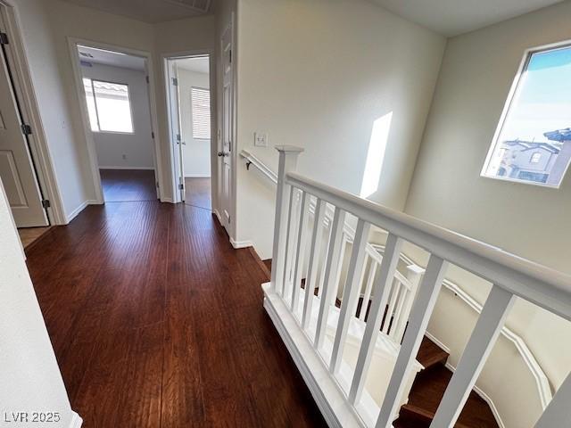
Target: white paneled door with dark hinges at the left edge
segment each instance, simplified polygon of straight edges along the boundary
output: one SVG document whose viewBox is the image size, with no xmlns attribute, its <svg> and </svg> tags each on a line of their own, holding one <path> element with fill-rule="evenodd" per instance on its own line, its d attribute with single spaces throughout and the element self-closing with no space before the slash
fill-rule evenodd
<svg viewBox="0 0 571 428">
<path fill-rule="evenodd" d="M 8 45 L 0 49 L 0 177 L 16 226 L 48 226 L 46 210 L 22 128 L 19 105 L 7 63 Z"/>
</svg>

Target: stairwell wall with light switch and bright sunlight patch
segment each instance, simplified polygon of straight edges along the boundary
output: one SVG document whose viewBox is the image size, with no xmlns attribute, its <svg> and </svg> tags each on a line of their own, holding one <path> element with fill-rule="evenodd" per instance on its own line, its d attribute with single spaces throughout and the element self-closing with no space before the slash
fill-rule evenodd
<svg viewBox="0 0 571 428">
<path fill-rule="evenodd" d="M 239 0 L 237 21 L 237 150 L 277 170 L 274 145 L 302 146 L 302 174 L 360 193 L 373 125 L 392 113 L 369 198 L 404 208 L 445 39 L 360 0 Z M 275 189 L 261 180 L 237 165 L 236 233 L 270 258 Z"/>
</svg>

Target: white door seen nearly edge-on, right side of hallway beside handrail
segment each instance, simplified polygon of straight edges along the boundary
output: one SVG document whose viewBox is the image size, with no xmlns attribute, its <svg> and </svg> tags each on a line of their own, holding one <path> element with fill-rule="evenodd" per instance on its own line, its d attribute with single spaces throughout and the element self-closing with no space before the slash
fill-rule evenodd
<svg viewBox="0 0 571 428">
<path fill-rule="evenodd" d="M 222 136 L 219 144 L 220 216 L 222 226 L 230 225 L 232 202 L 232 151 L 234 150 L 234 76 L 232 63 L 232 23 L 224 31 L 222 47 Z"/>
</svg>

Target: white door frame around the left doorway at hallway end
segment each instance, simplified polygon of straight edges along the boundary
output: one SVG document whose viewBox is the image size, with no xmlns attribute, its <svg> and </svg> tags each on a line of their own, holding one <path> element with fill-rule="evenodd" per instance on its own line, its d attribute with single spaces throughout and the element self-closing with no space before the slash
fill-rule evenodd
<svg viewBox="0 0 571 428">
<path fill-rule="evenodd" d="M 70 49 L 71 68 L 73 70 L 73 79 L 75 80 L 76 94 L 78 95 L 79 110 L 81 112 L 81 123 L 83 125 L 83 134 L 87 144 L 87 155 L 89 158 L 89 166 L 91 169 L 91 178 L 95 189 L 95 203 L 103 204 L 103 187 L 101 185 L 101 176 L 99 175 L 99 161 L 97 161 L 97 152 L 95 151 L 95 140 L 91 125 L 89 122 L 89 113 L 87 111 L 87 103 L 85 102 L 85 93 L 83 89 L 83 75 L 80 68 L 80 58 L 78 53 L 78 45 L 94 47 L 95 49 L 103 49 L 112 52 L 126 53 L 128 55 L 139 56 L 145 58 L 146 72 L 149 77 L 148 95 L 149 110 L 151 111 L 151 129 L 153 131 L 153 158 L 155 179 L 159 184 L 156 188 L 157 198 L 163 201 L 164 185 L 162 183 L 162 162 L 161 162 L 161 138 L 159 136 L 159 121 L 157 119 L 157 105 L 155 98 L 154 70 L 153 70 L 153 54 L 147 51 L 140 51 L 130 47 L 119 45 L 111 45 L 95 40 L 88 40 L 79 37 L 67 37 L 68 47 Z"/>
</svg>

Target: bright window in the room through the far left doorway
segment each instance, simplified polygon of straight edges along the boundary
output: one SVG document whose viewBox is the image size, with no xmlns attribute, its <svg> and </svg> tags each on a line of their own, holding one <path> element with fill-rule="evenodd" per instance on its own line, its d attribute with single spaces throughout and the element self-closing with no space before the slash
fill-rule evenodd
<svg viewBox="0 0 571 428">
<path fill-rule="evenodd" d="M 128 85 L 83 78 L 83 87 L 92 131 L 133 133 Z"/>
</svg>

